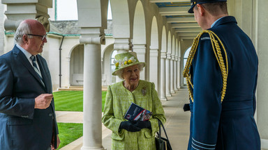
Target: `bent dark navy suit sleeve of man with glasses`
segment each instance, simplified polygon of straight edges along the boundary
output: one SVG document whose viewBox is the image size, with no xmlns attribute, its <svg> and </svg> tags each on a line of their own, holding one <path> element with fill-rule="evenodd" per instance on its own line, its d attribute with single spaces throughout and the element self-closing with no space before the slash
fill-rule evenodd
<svg viewBox="0 0 268 150">
<path fill-rule="evenodd" d="M 6 60 L 0 59 L 0 113 L 34 118 L 34 99 L 24 99 L 13 94 L 13 72 Z"/>
</svg>

